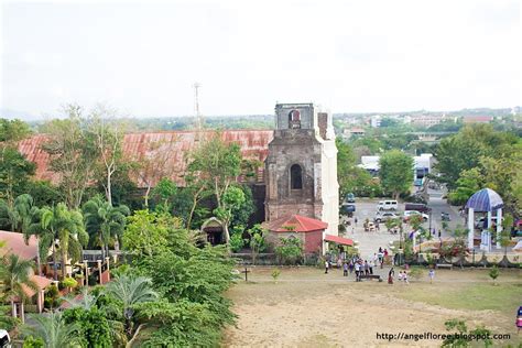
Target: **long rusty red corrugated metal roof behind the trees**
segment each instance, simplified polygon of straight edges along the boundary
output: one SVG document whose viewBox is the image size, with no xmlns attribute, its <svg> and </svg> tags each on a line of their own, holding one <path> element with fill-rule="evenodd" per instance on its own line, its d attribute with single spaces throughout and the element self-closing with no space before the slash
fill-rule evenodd
<svg viewBox="0 0 522 348">
<path fill-rule="evenodd" d="M 204 131 L 202 139 L 214 134 L 214 131 Z M 236 142 L 241 148 L 244 159 L 255 159 L 264 162 L 269 151 L 269 142 L 273 138 L 272 130 L 226 130 L 221 131 L 226 142 Z M 59 182 L 59 176 L 48 170 L 50 155 L 42 150 L 42 144 L 48 140 L 45 134 L 34 135 L 20 142 L 19 150 L 29 161 L 36 163 L 36 178 Z M 123 154 L 126 157 L 144 163 L 146 159 L 162 159 L 162 170 L 166 175 L 183 185 L 183 174 L 186 168 L 186 153 L 196 145 L 196 131 L 148 132 L 129 133 L 123 138 Z M 146 186 L 146 182 L 159 178 L 149 177 L 146 168 L 132 177 L 139 187 Z M 263 171 L 259 170 L 258 182 L 263 181 Z"/>
</svg>

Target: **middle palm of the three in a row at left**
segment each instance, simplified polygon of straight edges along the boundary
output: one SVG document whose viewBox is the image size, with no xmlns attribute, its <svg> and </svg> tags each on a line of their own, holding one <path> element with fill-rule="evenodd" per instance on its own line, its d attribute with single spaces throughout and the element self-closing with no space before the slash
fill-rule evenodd
<svg viewBox="0 0 522 348">
<path fill-rule="evenodd" d="M 84 228 L 84 217 L 78 210 L 69 210 L 65 203 L 58 203 L 53 208 L 42 208 L 41 225 L 43 228 L 42 244 L 45 242 L 45 247 L 53 248 L 55 280 L 57 280 L 56 240 L 59 240 L 62 274 L 65 278 L 67 276 L 68 255 L 70 254 L 73 260 L 78 260 L 81 247 L 86 246 L 89 239 Z"/>
</svg>

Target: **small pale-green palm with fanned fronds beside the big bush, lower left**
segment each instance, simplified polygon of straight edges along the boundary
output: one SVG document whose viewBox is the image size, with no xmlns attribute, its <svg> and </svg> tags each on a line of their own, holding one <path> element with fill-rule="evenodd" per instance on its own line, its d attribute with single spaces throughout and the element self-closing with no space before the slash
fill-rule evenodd
<svg viewBox="0 0 522 348">
<path fill-rule="evenodd" d="M 139 303 L 155 301 L 159 295 L 152 289 L 152 280 L 145 276 L 120 275 L 107 284 L 107 295 L 122 304 L 127 333 L 132 334 L 132 316 L 134 306 Z"/>
</svg>

